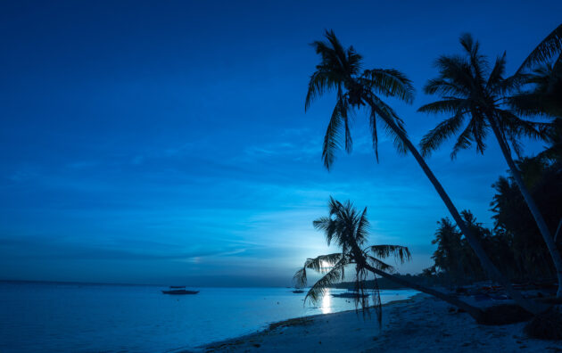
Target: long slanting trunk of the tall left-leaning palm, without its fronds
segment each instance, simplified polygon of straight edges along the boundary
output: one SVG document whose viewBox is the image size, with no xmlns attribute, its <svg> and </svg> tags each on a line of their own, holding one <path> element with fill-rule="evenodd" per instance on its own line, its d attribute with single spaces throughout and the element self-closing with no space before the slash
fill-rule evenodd
<svg viewBox="0 0 562 353">
<path fill-rule="evenodd" d="M 480 242 L 478 242 L 475 235 L 472 234 L 472 232 L 470 232 L 467 225 L 460 217 L 459 210 L 457 210 L 457 208 L 452 203 L 452 201 L 450 201 L 449 195 L 445 192 L 441 183 L 439 183 L 439 180 L 437 180 L 437 178 L 434 176 L 432 170 L 427 166 L 426 160 L 424 160 L 421 154 L 417 152 L 416 147 L 409 141 L 409 138 L 404 134 L 401 128 L 396 126 L 393 119 L 388 117 L 388 115 L 384 111 L 381 111 L 377 107 L 376 103 L 373 102 L 372 97 L 368 97 L 367 101 L 369 106 L 373 109 L 373 111 L 379 113 L 380 117 L 384 119 L 384 122 L 388 125 L 388 127 L 390 127 L 393 130 L 393 132 L 396 135 L 398 135 L 398 137 L 401 139 L 401 142 L 406 146 L 409 152 L 413 154 L 414 158 L 417 160 L 417 164 L 419 164 L 419 166 L 424 170 L 424 173 L 426 173 L 427 178 L 432 183 L 432 185 L 434 185 L 435 190 L 437 191 L 437 193 L 439 193 L 439 196 L 441 197 L 442 201 L 445 203 L 445 206 L 447 206 L 447 209 L 449 209 L 450 215 L 455 220 L 455 222 L 457 222 L 460 231 L 463 234 L 465 234 L 465 237 L 467 238 L 470 247 L 473 250 L 475 250 L 475 254 L 480 260 L 482 267 L 484 268 L 486 273 L 490 275 L 492 280 L 495 280 L 498 283 L 500 283 L 506 289 L 509 296 L 513 300 L 515 300 L 521 308 L 525 308 L 525 310 L 533 314 L 539 314 L 541 311 L 546 309 L 546 307 L 543 307 L 538 303 L 535 303 L 531 300 L 525 300 L 525 298 L 523 298 L 521 293 L 513 289 L 508 278 L 500 273 L 500 270 L 492 263 L 492 260 L 485 253 L 485 251 L 482 248 L 482 245 L 480 245 Z"/>
</svg>

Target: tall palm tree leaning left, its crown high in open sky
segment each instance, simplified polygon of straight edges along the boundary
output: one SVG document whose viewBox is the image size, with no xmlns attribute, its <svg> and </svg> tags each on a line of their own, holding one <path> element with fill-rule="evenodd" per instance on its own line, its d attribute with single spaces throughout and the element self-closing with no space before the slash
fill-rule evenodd
<svg viewBox="0 0 562 353">
<path fill-rule="evenodd" d="M 310 77 L 309 90 L 305 102 L 306 111 L 310 107 L 310 103 L 318 96 L 333 90 L 337 94 L 335 108 L 324 138 L 322 157 L 326 168 L 329 169 L 331 167 L 334 161 L 335 150 L 339 148 L 342 138 L 345 150 L 351 152 L 352 140 L 349 113 L 361 107 L 367 108 L 377 160 L 377 124 L 382 124 L 386 133 L 393 137 L 398 151 L 409 151 L 417 160 L 417 163 L 424 170 L 426 176 L 434 185 L 435 190 L 441 196 L 447 209 L 449 209 L 450 215 L 457 222 L 461 232 L 467 237 L 467 241 L 472 249 L 475 250 L 476 256 L 481 261 L 483 268 L 492 279 L 501 283 L 511 298 L 516 300 L 521 307 L 533 313 L 541 311 L 538 304 L 525 300 L 520 293 L 514 291 L 508 279 L 501 275 L 498 268 L 493 265 L 475 236 L 465 226 L 459 211 L 450 201 L 449 195 L 445 193 L 432 170 L 427 166 L 426 160 L 417 152 L 414 144 L 409 141 L 400 117 L 379 97 L 379 95 L 396 97 L 406 103 L 411 103 L 414 98 L 414 89 L 409 79 L 398 70 L 374 69 L 361 72 L 361 56 L 352 46 L 344 49 L 343 45 L 335 37 L 334 31 L 331 30 L 326 31 L 326 39 L 327 42 L 316 41 L 312 43 L 316 53 L 320 55 L 321 62 Z"/>
</svg>

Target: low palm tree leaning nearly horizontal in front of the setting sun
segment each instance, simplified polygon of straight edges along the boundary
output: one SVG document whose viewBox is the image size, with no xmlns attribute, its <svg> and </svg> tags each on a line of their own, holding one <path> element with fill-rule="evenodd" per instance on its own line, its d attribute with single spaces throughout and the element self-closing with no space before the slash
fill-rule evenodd
<svg viewBox="0 0 562 353">
<path fill-rule="evenodd" d="M 341 252 L 335 252 L 329 255 L 321 255 L 314 259 L 307 259 L 304 266 L 299 269 L 293 276 L 295 286 L 304 287 L 307 284 L 307 270 L 323 274 L 323 276 L 314 283 L 307 292 L 305 301 L 311 300 L 318 303 L 326 295 L 326 290 L 335 283 L 343 280 L 345 276 L 345 268 L 353 266 L 355 275 L 355 304 L 363 310 L 369 308 L 369 296 L 365 294 L 368 290 L 366 280 L 368 272 L 380 275 L 394 283 L 399 283 L 406 287 L 422 291 L 434 297 L 440 298 L 450 304 L 463 308 L 475 319 L 481 317 L 481 310 L 475 308 L 456 297 L 449 296 L 440 291 L 426 288 L 417 283 L 411 283 L 401 277 L 392 275 L 395 268 L 385 263 L 382 259 L 393 257 L 404 263 L 411 259 L 411 255 L 407 247 L 401 245 L 371 245 L 366 246 L 368 240 L 368 218 L 367 208 L 362 212 L 353 207 L 350 201 L 342 203 L 335 201 L 330 197 L 328 202 L 329 216 L 318 218 L 313 225 L 316 229 L 323 231 L 326 235 L 328 246 L 335 243 Z M 380 323 L 381 307 L 380 297 L 378 295 L 378 286 L 376 284 L 372 290 L 374 291 L 374 304 L 376 308 L 376 316 Z"/>
</svg>

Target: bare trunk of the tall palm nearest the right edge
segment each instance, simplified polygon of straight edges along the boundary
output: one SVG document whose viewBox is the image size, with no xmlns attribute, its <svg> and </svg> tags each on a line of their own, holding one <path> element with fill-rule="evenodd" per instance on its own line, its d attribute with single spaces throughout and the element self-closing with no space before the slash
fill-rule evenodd
<svg viewBox="0 0 562 353">
<path fill-rule="evenodd" d="M 508 167 L 511 170 L 511 175 L 515 179 L 517 186 L 519 186 L 519 190 L 523 194 L 523 198 L 525 199 L 525 202 L 527 203 L 529 210 L 531 210 L 531 213 L 533 214 L 534 221 L 539 227 L 539 231 L 541 232 L 542 239 L 544 239 L 544 242 L 546 243 L 547 248 L 550 251 L 550 257 L 552 258 L 552 262 L 554 262 L 554 267 L 556 268 L 556 275 L 558 278 L 558 291 L 556 296 L 558 298 L 562 298 L 562 258 L 560 257 L 560 252 L 556 247 L 556 243 L 554 242 L 552 235 L 550 235 L 549 227 L 544 221 L 544 218 L 542 218 L 541 211 L 537 207 L 536 203 L 534 203 L 533 196 L 531 196 L 531 193 L 529 193 L 529 189 L 527 189 L 527 186 L 523 181 L 523 177 L 521 177 L 519 168 L 517 168 L 515 162 L 511 158 L 511 152 L 509 151 L 508 145 L 503 139 L 503 136 L 500 134 L 500 128 L 497 126 L 496 120 L 495 119 L 490 119 L 490 120 L 491 120 L 490 125 L 492 126 L 492 131 L 494 135 L 496 135 L 496 138 L 498 139 L 498 143 L 500 144 L 501 152 L 503 153 L 504 158 L 508 162 Z"/>
</svg>

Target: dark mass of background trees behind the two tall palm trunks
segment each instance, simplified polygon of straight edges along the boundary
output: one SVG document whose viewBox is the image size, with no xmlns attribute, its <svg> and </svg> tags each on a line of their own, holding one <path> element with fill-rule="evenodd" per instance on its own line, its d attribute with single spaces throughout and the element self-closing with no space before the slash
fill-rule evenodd
<svg viewBox="0 0 562 353">
<path fill-rule="evenodd" d="M 558 157 L 559 158 L 559 157 Z M 525 183 L 555 234 L 562 220 L 562 160 L 525 158 L 519 160 Z M 486 228 L 474 216 L 462 213 L 478 236 L 494 264 L 515 283 L 556 281 L 555 267 L 549 250 L 541 241 L 533 216 L 511 177 L 501 176 L 492 185 L 496 193 L 491 203 L 493 227 Z M 434 266 L 424 275 L 433 275 L 443 284 L 462 285 L 487 279 L 475 258 L 474 251 L 449 218 L 437 222 L 434 244 L 437 245 Z M 562 250 L 562 235 L 558 232 L 558 250 Z"/>
</svg>

